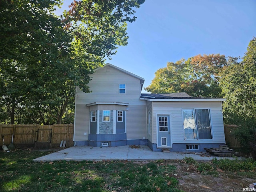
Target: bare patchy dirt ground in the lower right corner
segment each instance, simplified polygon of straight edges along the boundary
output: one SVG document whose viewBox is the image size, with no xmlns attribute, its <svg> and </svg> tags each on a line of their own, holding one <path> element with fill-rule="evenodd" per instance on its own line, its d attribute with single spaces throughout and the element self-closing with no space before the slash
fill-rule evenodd
<svg viewBox="0 0 256 192">
<path fill-rule="evenodd" d="M 241 192 L 244 187 L 247 187 L 250 183 L 256 182 L 254 179 L 243 178 L 236 172 L 218 170 L 218 172 L 212 176 L 197 172 L 192 165 L 181 163 L 172 163 L 172 165 L 177 168 L 177 176 L 174 175 L 174 177 L 179 180 L 179 189 L 186 192 Z"/>
</svg>

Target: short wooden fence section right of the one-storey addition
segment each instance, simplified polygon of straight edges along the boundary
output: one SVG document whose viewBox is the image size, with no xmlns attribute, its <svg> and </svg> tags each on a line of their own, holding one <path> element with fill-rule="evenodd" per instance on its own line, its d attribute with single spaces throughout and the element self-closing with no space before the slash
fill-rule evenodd
<svg viewBox="0 0 256 192">
<path fill-rule="evenodd" d="M 226 144 L 229 148 L 239 148 L 240 143 L 233 134 L 233 130 L 237 128 L 237 125 L 224 125 Z"/>
</svg>

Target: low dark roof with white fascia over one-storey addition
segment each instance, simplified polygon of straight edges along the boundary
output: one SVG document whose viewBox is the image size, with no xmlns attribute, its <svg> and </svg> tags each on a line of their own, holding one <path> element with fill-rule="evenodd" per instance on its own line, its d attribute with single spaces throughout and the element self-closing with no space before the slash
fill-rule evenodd
<svg viewBox="0 0 256 192">
<path fill-rule="evenodd" d="M 225 98 L 203 98 L 203 97 L 192 97 L 185 92 L 180 93 L 142 93 L 140 96 L 141 100 L 148 101 L 225 101 Z"/>
</svg>

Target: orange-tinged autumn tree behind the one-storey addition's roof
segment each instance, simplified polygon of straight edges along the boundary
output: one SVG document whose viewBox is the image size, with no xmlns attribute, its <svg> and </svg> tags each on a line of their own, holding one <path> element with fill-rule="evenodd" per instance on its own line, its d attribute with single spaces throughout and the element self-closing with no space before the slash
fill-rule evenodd
<svg viewBox="0 0 256 192">
<path fill-rule="evenodd" d="M 186 92 L 197 97 L 220 97 L 220 71 L 227 65 L 220 54 L 197 55 L 156 71 L 155 78 L 145 88 L 151 93 Z"/>
</svg>

